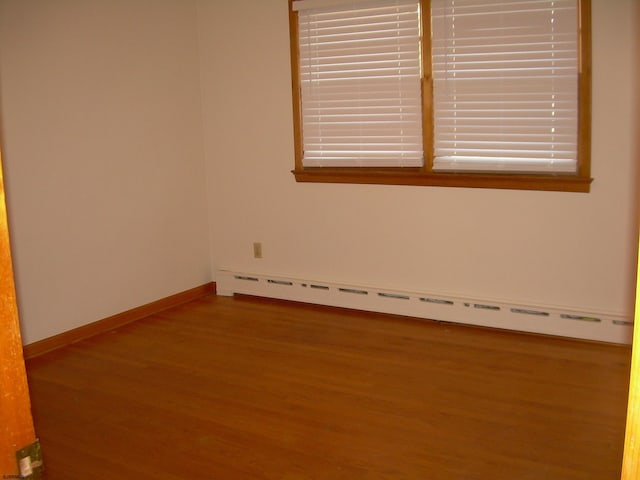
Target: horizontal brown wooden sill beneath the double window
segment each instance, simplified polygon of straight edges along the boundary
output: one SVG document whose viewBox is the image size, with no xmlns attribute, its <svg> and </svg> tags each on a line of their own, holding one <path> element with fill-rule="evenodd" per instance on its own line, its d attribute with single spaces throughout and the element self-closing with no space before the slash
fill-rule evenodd
<svg viewBox="0 0 640 480">
<path fill-rule="evenodd" d="M 363 171 L 364 170 L 364 171 Z M 305 168 L 293 170 L 296 182 L 418 185 L 589 193 L 592 178 L 575 175 L 432 173 L 418 168 Z"/>
</svg>

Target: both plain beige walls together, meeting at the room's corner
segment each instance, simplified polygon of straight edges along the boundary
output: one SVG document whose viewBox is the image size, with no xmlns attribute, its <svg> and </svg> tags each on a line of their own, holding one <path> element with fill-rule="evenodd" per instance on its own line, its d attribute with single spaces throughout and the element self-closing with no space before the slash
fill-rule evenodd
<svg viewBox="0 0 640 480">
<path fill-rule="evenodd" d="M 219 267 L 629 313 L 633 5 L 593 0 L 595 181 L 571 194 L 295 183 L 286 0 L 0 0 L 25 343 Z"/>
</svg>

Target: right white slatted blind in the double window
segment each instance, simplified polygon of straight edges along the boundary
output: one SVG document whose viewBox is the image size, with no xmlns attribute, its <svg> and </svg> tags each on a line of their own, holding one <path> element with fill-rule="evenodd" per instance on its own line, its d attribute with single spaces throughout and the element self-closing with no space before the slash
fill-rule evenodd
<svg viewBox="0 0 640 480">
<path fill-rule="evenodd" d="M 434 170 L 575 173 L 577 0 L 432 0 Z"/>
</svg>

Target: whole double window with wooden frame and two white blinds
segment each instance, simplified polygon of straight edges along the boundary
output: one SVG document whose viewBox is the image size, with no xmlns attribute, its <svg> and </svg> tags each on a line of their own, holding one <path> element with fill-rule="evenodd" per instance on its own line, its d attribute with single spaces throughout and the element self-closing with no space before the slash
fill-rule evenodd
<svg viewBox="0 0 640 480">
<path fill-rule="evenodd" d="M 296 180 L 588 192 L 588 0 L 290 0 Z"/>
</svg>

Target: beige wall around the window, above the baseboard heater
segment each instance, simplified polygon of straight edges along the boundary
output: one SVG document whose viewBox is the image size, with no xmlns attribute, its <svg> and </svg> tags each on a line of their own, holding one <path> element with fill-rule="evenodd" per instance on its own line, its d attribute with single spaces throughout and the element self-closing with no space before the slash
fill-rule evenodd
<svg viewBox="0 0 640 480">
<path fill-rule="evenodd" d="M 200 0 L 213 268 L 629 314 L 633 5 L 593 1 L 595 180 L 574 194 L 297 184 L 287 1 Z"/>
</svg>

